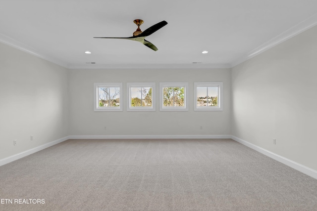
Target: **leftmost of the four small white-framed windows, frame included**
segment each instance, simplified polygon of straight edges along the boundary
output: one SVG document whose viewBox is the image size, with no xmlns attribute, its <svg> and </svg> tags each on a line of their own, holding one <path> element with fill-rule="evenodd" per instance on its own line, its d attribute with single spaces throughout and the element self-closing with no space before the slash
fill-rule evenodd
<svg viewBox="0 0 317 211">
<path fill-rule="evenodd" d="M 122 83 L 94 84 L 94 111 L 122 111 Z"/>
</svg>

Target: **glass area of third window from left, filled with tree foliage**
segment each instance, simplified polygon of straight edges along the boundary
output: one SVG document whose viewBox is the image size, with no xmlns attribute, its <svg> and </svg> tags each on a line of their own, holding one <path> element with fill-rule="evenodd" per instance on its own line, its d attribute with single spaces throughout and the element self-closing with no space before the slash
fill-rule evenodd
<svg viewBox="0 0 317 211">
<path fill-rule="evenodd" d="M 184 106 L 185 87 L 163 87 L 163 106 Z"/>
</svg>

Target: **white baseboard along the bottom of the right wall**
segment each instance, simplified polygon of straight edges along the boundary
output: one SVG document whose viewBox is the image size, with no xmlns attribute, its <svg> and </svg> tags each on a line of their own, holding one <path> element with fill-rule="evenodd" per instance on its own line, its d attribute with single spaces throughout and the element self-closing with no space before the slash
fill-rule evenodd
<svg viewBox="0 0 317 211">
<path fill-rule="evenodd" d="M 301 165 L 299 163 L 296 163 L 296 162 L 291 161 L 291 160 L 289 160 L 287 158 L 284 158 L 284 157 L 282 157 L 280 155 L 272 153 L 272 152 L 270 152 L 270 151 L 268 151 L 268 150 L 266 150 L 264 148 L 261 148 L 261 147 L 259 147 L 257 145 L 254 145 L 254 144 L 252 144 L 252 143 L 250 143 L 248 141 L 245 141 L 245 140 L 243 140 L 241 138 L 238 138 L 238 137 L 236 137 L 234 135 L 232 135 L 231 138 L 233 140 L 235 140 L 235 141 L 247 146 L 247 147 L 250 147 L 251 149 L 254 149 L 254 150 L 266 155 L 267 157 L 270 157 L 270 158 L 272 158 L 272 159 L 274 159 L 274 160 L 276 160 L 276 161 L 278 161 L 278 162 L 280 162 L 282 164 L 285 164 L 286 166 L 289 166 L 289 167 L 291 167 L 293 169 L 301 171 L 302 173 L 305 173 L 305 174 L 317 179 L 317 171 L 314 170 L 314 169 L 310 169 L 310 168 L 305 167 L 305 166 L 303 166 L 303 165 Z"/>
</svg>

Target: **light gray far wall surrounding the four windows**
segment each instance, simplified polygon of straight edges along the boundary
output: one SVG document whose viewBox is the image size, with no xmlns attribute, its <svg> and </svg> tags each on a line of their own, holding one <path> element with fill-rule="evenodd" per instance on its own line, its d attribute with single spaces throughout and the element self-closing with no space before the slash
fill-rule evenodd
<svg viewBox="0 0 317 211">
<path fill-rule="evenodd" d="M 223 111 L 194 111 L 194 82 L 223 82 Z M 95 82 L 123 83 L 122 112 L 94 112 Z M 155 82 L 156 111 L 126 111 L 126 83 Z M 159 111 L 159 82 L 188 82 L 189 111 Z M 196 70 L 70 70 L 70 135 L 229 135 L 231 71 Z M 200 129 L 200 127 L 203 129 Z M 107 128 L 105 130 L 105 127 Z"/>
</svg>

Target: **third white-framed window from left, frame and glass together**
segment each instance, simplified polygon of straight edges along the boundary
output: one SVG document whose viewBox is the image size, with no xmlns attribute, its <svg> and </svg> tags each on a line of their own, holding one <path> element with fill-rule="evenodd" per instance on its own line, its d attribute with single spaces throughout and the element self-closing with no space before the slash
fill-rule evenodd
<svg viewBox="0 0 317 211">
<path fill-rule="evenodd" d="M 188 83 L 159 83 L 160 111 L 188 111 Z"/>
</svg>

